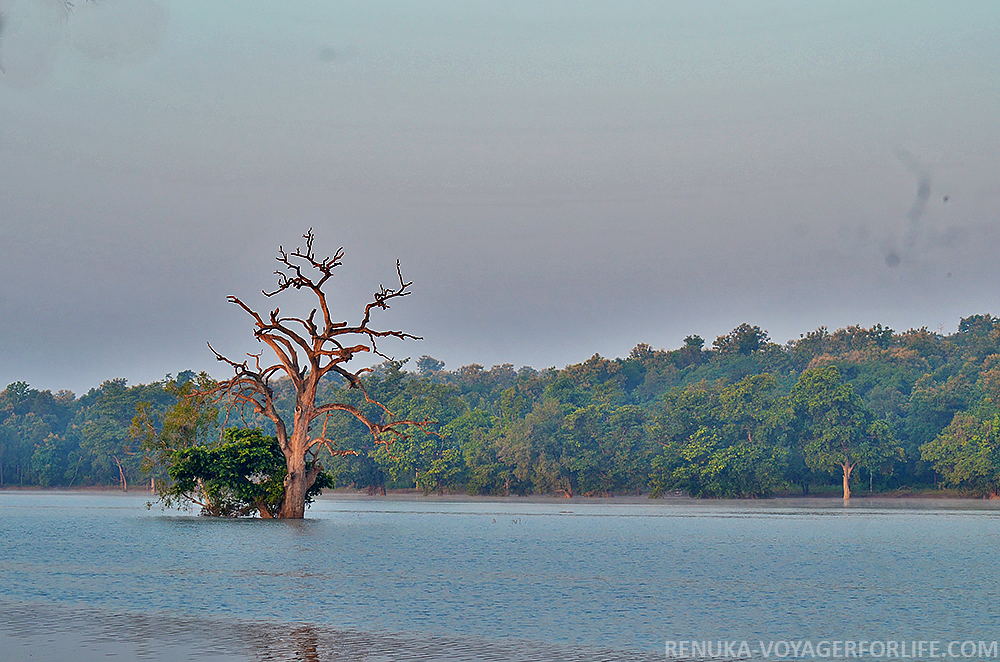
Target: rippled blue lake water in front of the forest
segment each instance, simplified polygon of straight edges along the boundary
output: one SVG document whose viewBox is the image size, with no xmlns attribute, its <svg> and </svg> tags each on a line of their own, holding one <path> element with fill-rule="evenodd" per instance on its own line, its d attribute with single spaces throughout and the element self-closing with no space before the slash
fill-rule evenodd
<svg viewBox="0 0 1000 662">
<path fill-rule="evenodd" d="M 275 522 L 147 499 L 0 492 L 0 659 L 662 660 L 677 640 L 1000 639 L 991 502 L 340 497 Z"/>
</svg>

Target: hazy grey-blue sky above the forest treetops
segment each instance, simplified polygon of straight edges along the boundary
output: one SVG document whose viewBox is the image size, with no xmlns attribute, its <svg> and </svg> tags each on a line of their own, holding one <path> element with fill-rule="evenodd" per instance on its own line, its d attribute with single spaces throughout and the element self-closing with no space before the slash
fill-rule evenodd
<svg viewBox="0 0 1000 662">
<path fill-rule="evenodd" d="M 998 118 L 994 0 L 0 0 L 0 386 L 227 376 L 309 228 L 449 369 L 952 333 Z"/>
</svg>

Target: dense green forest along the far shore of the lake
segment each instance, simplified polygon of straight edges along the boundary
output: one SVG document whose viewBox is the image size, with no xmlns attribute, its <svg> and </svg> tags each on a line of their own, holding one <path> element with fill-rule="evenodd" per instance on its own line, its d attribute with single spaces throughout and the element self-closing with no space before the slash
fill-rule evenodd
<svg viewBox="0 0 1000 662">
<path fill-rule="evenodd" d="M 149 489 L 170 483 L 180 446 L 246 437 L 234 428 L 274 433 L 246 408 L 221 407 L 198 414 L 209 420 L 186 441 L 170 437 L 185 396 L 212 383 L 183 371 L 152 384 L 111 379 L 79 397 L 9 384 L 0 393 L 0 486 Z M 270 386 L 279 410 L 290 411 L 288 381 Z M 1000 494 L 1000 318 L 989 314 L 962 319 L 950 335 L 821 327 L 784 345 L 741 324 L 710 346 L 691 335 L 677 349 L 639 344 L 625 358 L 594 355 L 561 369 L 447 370 L 421 356 L 374 366 L 364 391 L 349 386 L 331 373 L 317 399 L 353 403 L 372 420 L 388 415 L 383 403 L 394 416 L 434 424 L 386 444 L 353 416 L 328 417 L 323 437 L 336 448 L 316 455 L 328 475 L 322 486 L 705 498 Z"/>
</svg>

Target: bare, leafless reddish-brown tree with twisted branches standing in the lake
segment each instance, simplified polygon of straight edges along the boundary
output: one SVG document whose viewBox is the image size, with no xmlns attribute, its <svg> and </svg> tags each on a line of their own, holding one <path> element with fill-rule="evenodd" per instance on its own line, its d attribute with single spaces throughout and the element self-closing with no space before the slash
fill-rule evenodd
<svg viewBox="0 0 1000 662">
<path fill-rule="evenodd" d="M 368 427 L 376 443 L 383 444 L 405 436 L 408 428 L 425 430 L 431 423 L 427 420 L 396 418 L 385 405 L 368 397 L 361 375 L 370 371 L 370 368 L 351 370 L 346 367 L 362 353 L 372 353 L 388 359 L 377 347 L 381 338 L 420 340 L 418 336 L 403 331 L 380 331 L 371 326 L 372 313 L 376 309 L 387 310 L 394 299 L 410 294 L 412 283 L 403 280 L 399 261 L 396 261 L 398 286 L 386 288 L 380 285 L 371 301 L 365 305 L 357 324 L 335 321 L 327 305 L 324 287 L 333 276 L 333 270 L 341 265 L 344 249 L 339 249 L 333 257 L 320 259 L 313 251 L 312 230 L 303 235 L 303 238 L 306 240 L 305 250 L 296 248 L 288 253 L 279 247 L 277 260 L 281 267 L 274 272 L 278 276 L 278 287 L 273 292 L 263 291 L 263 294 L 273 297 L 290 289 L 307 290 L 315 296 L 316 308 L 306 317 L 284 317 L 276 307 L 264 317 L 238 297 L 230 296 L 231 303 L 253 318 L 254 337 L 271 349 L 274 362 L 268 364 L 262 361 L 263 352 L 248 354 L 248 360 L 243 362 L 233 361 L 209 344 L 216 359 L 229 364 L 234 375 L 201 393 L 213 396 L 218 401 L 229 398 L 230 408 L 249 406 L 274 422 L 278 445 L 285 456 L 287 468 L 284 499 L 277 511 L 277 516 L 285 519 L 302 519 L 304 516 L 309 490 L 323 471 L 317 460 L 321 448 L 326 448 L 333 455 L 357 454 L 353 450 L 338 448 L 336 442 L 326 437 L 326 421 L 332 414 L 346 412 L 354 416 Z M 377 405 L 382 412 L 382 420 L 371 420 L 351 404 L 317 403 L 320 380 L 331 372 L 344 378 L 350 388 L 359 389 L 365 401 Z M 270 382 L 276 377 L 287 377 L 295 388 L 295 412 L 290 428 L 275 407 L 275 393 Z M 323 419 L 322 430 L 315 434 L 310 426 L 320 418 Z"/>
</svg>

